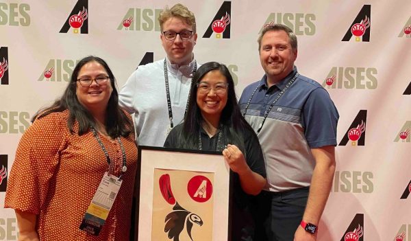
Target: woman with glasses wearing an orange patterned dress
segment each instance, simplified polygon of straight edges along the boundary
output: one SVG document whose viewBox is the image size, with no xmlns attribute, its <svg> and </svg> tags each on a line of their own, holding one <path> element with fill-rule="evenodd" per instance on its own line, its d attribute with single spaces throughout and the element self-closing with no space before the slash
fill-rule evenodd
<svg viewBox="0 0 411 241">
<path fill-rule="evenodd" d="M 137 149 L 107 63 L 80 60 L 64 94 L 38 111 L 16 151 L 5 196 L 18 240 L 129 240 Z M 120 187 L 99 235 L 79 229 L 105 172 Z"/>
</svg>

